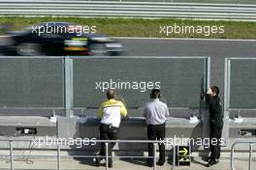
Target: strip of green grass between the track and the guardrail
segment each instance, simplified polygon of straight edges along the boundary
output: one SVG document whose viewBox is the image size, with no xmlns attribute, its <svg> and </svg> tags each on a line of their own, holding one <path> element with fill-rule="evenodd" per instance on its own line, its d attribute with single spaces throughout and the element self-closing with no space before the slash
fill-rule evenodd
<svg viewBox="0 0 256 170">
<path fill-rule="evenodd" d="M 175 18 L 0 17 L 0 25 L 10 23 L 13 25 L 12 30 L 19 30 L 32 24 L 48 21 L 68 21 L 88 26 L 95 25 L 97 33 L 108 34 L 113 37 L 256 39 L 256 22 L 246 21 L 208 21 Z M 177 33 L 174 33 L 175 25 L 179 26 L 179 29 L 183 27 L 183 30 L 186 31 L 181 33 L 180 30 L 178 33 L 178 29 L 176 29 Z M 163 31 L 161 32 L 161 28 L 165 28 L 165 31 L 167 31 L 167 27 L 170 32 L 168 35 L 167 33 L 164 34 Z M 223 28 L 224 32 L 223 30 L 217 30 L 216 32 L 216 29 L 220 27 Z M 189 29 L 191 30 L 189 31 Z M 209 32 L 209 29 L 214 29 L 214 33 Z M 172 31 L 173 33 L 171 33 Z M 0 33 L 3 34 L 3 30 Z"/>
</svg>

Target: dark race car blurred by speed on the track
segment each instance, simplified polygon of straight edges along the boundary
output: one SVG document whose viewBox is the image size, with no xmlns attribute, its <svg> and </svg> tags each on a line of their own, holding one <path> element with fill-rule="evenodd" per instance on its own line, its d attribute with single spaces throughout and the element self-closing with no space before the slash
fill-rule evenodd
<svg viewBox="0 0 256 170">
<path fill-rule="evenodd" d="M 96 34 L 96 27 L 70 22 L 46 22 L 27 29 L 8 32 L 0 39 L 5 55 L 119 55 L 122 44 L 106 35 Z"/>
</svg>

